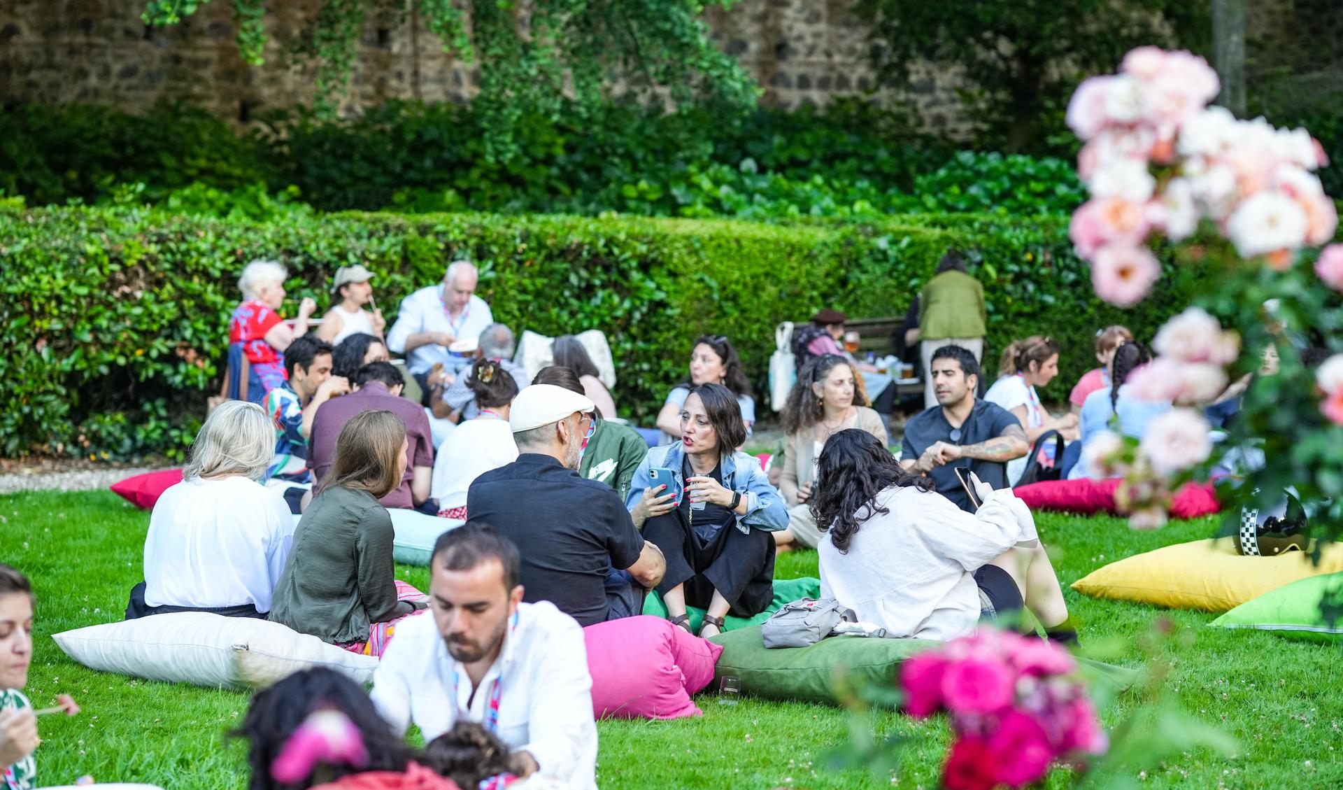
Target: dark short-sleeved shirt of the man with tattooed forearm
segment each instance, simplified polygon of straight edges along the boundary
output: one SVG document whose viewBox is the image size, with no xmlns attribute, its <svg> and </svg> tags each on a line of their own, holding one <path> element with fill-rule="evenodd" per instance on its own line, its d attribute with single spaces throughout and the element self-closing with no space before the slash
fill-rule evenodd
<svg viewBox="0 0 1343 790">
<path fill-rule="evenodd" d="M 905 423 L 905 442 L 900 458 L 901 461 L 917 461 L 923 455 L 923 451 L 935 442 L 978 445 L 979 442 L 1003 435 L 1003 431 L 1009 426 L 1021 427 L 1021 421 L 1017 419 L 1017 415 L 997 403 L 975 400 L 975 407 L 970 410 L 970 416 L 962 423 L 959 434 L 954 437 L 952 431 L 956 429 L 952 429 L 951 423 L 947 422 L 947 415 L 943 414 L 941 406 L 933 406 Z M 974 513 L 975 507 L 970 504 L 970 497 L 960 488 L 955 466 L 968 466 L 971 472 L 979 476 L 979 480 L 988 485 L 1007 488 L 1007 465 L 999 461 L 958 458 L 951 464 L 935 466 L 928 473 L 928 477 L 932 477 L 937 484 L 937 493 L 955 502 L 958 508 L 967 513 Z"/>
</svg>

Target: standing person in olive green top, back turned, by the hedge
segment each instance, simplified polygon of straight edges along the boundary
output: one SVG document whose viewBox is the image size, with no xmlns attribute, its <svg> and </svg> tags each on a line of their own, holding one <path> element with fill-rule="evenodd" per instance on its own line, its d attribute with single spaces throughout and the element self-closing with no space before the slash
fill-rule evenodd
<svg viewBox="0 0 1343 790">
<path fill-rule="evenodd" d="M 943 345 L 959 345 L 979 360 L 984 355 L 984 286 L 966 273 L 958 253 L 947 253 L 937 263 L 937 273 L 919 294 L 919 345 L 924 380 L 924 408 L 937 406 L 932 392 L 928 365 L 932 352 Z"/>
</svg>

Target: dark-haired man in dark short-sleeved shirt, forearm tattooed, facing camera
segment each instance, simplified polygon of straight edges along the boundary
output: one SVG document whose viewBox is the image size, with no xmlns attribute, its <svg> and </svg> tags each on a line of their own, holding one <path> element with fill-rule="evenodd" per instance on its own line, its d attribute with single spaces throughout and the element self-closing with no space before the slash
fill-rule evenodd
<svg viewBox="0 0 1343 790">
<path fill-rule="evenodd" d="M 900 465 L 932 477 L 937 493 L 972 513 L 955 468 L 970 469 L 994 488 L 1007 488 L 1007 461 L 1029 453 L 1030 443 L 1013 412 L 975 396 L 979 363 L 964 348 L 935 351 L 928 376 L 937 406 L 905 423 Z"/>
</svg>

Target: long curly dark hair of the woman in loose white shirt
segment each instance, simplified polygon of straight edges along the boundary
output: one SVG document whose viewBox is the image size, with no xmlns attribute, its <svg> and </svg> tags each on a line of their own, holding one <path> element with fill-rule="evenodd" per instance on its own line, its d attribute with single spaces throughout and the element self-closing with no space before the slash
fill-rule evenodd
<svg viewBox="0 0 1343 790">
<path fill-rule="evenodd" d="M 830 533 L 830 543 L 847 554 L 864 521 L 890 512 L 876 505 L 877 494 L 890 486 L 911 485 L 936 490 L 931 477 L 905 472 L 881 439 L 861 429 L 846 429 L 830 437 L 821 450 L 811 516 L 822 532 Z"/>
</svg>

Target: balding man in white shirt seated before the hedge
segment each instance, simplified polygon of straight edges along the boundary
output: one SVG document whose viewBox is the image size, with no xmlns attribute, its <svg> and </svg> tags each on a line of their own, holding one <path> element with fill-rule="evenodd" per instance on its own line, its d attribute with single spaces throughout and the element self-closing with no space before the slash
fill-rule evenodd
<svg viewBox="0 0 1343 790">
<path fill-rule="evenodd" d="M 407 368 L 420 379 L 426 392 L 432 383 L 426 379 L 435 363 L 455 374 L 473 359 L 470 353 L 454 355 L 447 347 L 479 337 L 494 322 L 490 306 L 475 296 L 478 282 L 479 273 L 470 261 L 454 261 L 441 285 L 422 288 L 402 300 L 396 324 L 387 333 L 387 348 L 406 355 Z M 446 380 L 451 383 L 453 376 Z"/>
</svg>

